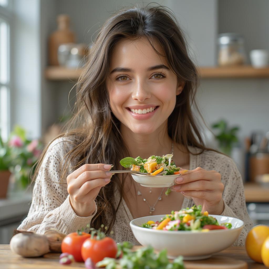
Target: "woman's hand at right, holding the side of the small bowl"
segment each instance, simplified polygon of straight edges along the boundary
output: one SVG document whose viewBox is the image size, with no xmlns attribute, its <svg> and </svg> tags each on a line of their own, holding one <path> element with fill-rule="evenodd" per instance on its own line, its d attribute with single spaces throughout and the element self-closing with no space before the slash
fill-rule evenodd
<svg viewBox="0 0 269 269">
<path fill-rule="evenodd" d="M 173 189 L 186 196 L 192 197 L 196 206 L 202 206 L 209 214 L 220 215 L 224 210 L 222 192 L 224 185 L 221 174 L 215 170 L 207 171 L 201 167 L 189 170 L 175 179 Z"/>
</svg>

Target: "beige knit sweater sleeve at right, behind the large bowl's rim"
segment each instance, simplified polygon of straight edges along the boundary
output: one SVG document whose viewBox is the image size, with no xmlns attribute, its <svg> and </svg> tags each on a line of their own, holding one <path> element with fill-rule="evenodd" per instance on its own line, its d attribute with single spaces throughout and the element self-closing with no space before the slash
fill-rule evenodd
<svg viewBox="0 0 269 269">
<path fill-rule="evenodd" d="M 244 221 L 243 230 L 233 246 L 244 246 L 252 221 L 247 213 L 242 177 L 232 160 L 228 161 L 224 179 L 224 211 L 221 215 L 238 218 Z"/>
</svg>

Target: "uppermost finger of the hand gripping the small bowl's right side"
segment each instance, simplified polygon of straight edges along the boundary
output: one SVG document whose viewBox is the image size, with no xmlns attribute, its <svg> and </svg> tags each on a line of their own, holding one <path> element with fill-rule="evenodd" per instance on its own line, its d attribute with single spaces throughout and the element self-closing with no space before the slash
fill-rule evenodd
<svg viewBox="0 0 269 269">
<path fill-rule="evenodd" d="M 178 178 L 175 179 L 176 184 L 185 184 L 188 182 L 193 182 L 196 180 L 221 180 L 221 175 L 217 172 L 213 171 L 206 171 L 200 167 L 187 172 L 184 175 L 180 175 Z"/>
</svg>

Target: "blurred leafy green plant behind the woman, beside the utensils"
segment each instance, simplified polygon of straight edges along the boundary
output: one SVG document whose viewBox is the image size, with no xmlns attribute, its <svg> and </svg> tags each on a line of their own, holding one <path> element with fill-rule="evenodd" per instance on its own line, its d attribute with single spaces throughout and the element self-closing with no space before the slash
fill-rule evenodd
<svg viewBox="0 0 269 269">
<path fill-rule="evenodd" d="M 218 130 L 218 134 L 215 134 L 215 138 L 218 141 L 220 151 L 231 156 L 233 145 L 238 142 L 237 132 L 239 127 L 228 127 L 225 120 L 220 120 L 211 125 L 213 129 Z"/>
</svg>

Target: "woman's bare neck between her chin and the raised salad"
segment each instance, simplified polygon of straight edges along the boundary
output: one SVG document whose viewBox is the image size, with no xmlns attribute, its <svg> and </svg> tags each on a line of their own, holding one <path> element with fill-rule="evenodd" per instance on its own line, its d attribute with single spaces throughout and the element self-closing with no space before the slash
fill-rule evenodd
<svg viewBox="0 0 269 269">
<path fill-rule="evenodd" d="M 168 135 L 167 123 L 151 134 L 135 134 L 121 125 L 121 133 L 131 156 L 147 159 L 150 155 L 162 156 L 171 153 L 172 139 Z"/>
</svg>

